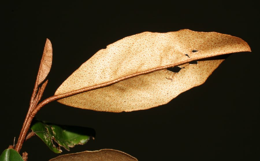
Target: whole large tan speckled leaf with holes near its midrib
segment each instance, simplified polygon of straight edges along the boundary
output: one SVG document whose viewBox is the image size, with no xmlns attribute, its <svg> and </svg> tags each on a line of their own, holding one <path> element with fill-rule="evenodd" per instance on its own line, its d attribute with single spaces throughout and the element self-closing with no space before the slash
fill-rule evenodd
<svg viewBox="0 0 260 161">
<path fill-rule="evenodd" d="M 98 51 L 62 83 L 55 95 L 79 93 L 58 100 L 77 108 L 144 110 L 166 104 L 204 83 L 222 60 L 187 62 L 240 51 L 250 51 L 245 41 L 216 32 L 143 32 Z M 181 64 L 185 68 L 179 73 L 165 69 Z"/>
</svg>

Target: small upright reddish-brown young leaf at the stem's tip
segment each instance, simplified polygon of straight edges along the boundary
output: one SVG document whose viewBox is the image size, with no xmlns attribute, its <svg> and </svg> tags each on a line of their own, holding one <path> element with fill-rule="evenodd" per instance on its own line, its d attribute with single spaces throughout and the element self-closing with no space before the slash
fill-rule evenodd
<svg viewBox="0 0 260 161">
<path fill-rule="evenodd" d="M 37 85 L 40 85 L 47 77 L 47 75 L 51 70 L 51 64 L 52 64 L 52 46 L 51 46 L 51 41 L 47 39 L 44 46 L 40 67 L 37 74 L 37 80 L 36 80 Z"/>
</svg>

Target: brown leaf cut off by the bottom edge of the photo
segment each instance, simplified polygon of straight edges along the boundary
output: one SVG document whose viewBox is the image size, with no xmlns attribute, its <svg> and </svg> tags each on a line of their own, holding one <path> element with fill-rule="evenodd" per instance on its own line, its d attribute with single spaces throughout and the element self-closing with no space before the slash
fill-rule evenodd
<svg viewBox="0 0 260 161">
<path fill-rule="evenodd" d="M 65 154 L 49 161 L 137 161 L 136 158 L 113 149 L 99 151 L 85 151 L 74 154 Z"/>
</svg>

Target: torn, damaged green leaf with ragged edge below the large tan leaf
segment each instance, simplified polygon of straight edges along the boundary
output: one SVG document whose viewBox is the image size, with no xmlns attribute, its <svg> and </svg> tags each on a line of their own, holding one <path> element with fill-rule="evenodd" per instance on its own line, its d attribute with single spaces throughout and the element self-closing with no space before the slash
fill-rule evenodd
<svg viewBox="0 0 260 161">
<path fill-rule="evenodd" d="M 36 122 L 31 130 L 55 153 L 61 153 L 60 147 L 70 150 L 75 145 L 87 143 L 94 130 L 86 127 L 61 126 Z M 93 135 L 92 135 L 93 136 Z"/>
</svg>

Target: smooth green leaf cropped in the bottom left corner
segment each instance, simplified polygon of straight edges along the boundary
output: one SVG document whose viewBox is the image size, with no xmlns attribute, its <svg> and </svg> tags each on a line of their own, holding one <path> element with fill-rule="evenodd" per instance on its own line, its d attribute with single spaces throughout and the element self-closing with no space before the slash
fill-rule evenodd
<svg viewBox="0 0 260 161">
<path fill-rule="evenodd" d="M 6 149 L 0 156 L 0 161 L 24 161 L 16 150 Z"/>
</svg>

